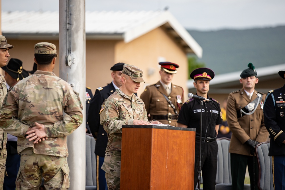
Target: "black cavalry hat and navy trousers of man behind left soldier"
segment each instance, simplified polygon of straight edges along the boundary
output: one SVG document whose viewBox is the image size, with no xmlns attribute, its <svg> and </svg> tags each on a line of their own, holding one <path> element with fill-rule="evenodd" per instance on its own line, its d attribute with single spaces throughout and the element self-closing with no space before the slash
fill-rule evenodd
<svg viewBox="0 0 285 190">
<path fill-rule="evenodd" d="M 20 81 L 25 77 L 29 76 L 28 71 L 23 69 L 23 62 L 19 59 L 11 58 L 8 64 L 1 67 L 11 77 Z M 6 77 L 5 77 L 6 78 Z M 10 83 L 6 79 L 6 83 Z M 11 86 L 10 86 L 11 87 Z M 7 86 L 7 89 L 9 87 Z M 6 160 L 6 171 L 8 176 L 4 177 L 3 190 L 14 190 L 16 188 L 16 178 L 20 168 L 21 156 L 17 152 L 17 137 L 7 134 L 7 160 Z"/>
</svg>

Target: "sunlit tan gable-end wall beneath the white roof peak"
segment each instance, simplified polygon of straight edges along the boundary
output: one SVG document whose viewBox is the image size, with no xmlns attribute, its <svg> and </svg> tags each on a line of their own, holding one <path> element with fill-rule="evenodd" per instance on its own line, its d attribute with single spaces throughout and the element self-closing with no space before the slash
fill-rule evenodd
<svg viewBox="0 0 285 190">
<path fill-rule="evenodd" d="M 170 61 L 178 64 L 178 72 L 174 74 L 173 83 L 184 89 L 184 99 L 187 99 L 188 59 L 183 50 L 169 37 L 162 28 L 156 28 L 147 34 L 129 42 L 120 41 L 115 46 L 115 62 L 124 62 L 139 67 L 144 71 L 138 96 L 146 85 L 160 80 L 160 61 Z M 185 98 L 186 96 L 186 98 Z"/>
</svg>

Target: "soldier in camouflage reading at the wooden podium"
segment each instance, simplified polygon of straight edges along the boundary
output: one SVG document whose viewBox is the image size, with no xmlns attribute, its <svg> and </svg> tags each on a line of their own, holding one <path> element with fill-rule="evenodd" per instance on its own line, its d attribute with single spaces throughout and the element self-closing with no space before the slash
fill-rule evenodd
<svg viewBox="0 0 285 190">
<path fill-rule="evenodd" d="M 105 160 L 101 169 L 106 174 L 109 190 L 120 189 L 122 125 L 162 124 L 156 120 L 149 122 L 143 101 L 137 93 L 144 82 L 143 71 L 132 65 L 124 65 L 122 86 L 102 104 L 100 122 L 108 134 Z"/>
</svg>

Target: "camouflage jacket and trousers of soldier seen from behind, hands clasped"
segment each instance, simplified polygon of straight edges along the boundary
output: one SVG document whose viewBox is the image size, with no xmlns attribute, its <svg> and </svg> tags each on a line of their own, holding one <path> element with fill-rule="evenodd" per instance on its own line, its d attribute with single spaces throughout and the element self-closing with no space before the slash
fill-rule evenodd
<svg viewBox="0 0 285 190">
<path fill-rule="evenodd" d="M 42 176 L 46 189 L 68 189 L 66 136 L 82 120 L 78 94 L 53 72 L 38 70 L 8 91 L 0 109 L 0 126 L 18 136 L 21 164 L 17 189 L 38 189 Z M 45 126 L 48 137 L 38 144 L 25 138 L 35 122 Z"/>
</svg>

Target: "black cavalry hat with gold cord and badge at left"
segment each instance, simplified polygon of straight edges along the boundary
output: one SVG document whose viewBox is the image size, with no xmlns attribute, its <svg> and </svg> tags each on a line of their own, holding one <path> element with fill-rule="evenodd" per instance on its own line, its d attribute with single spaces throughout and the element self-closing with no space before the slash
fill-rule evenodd
<svg viewBox="0 0 285 190">
<path fill-rule="evenodd" d="M 8 64 L 1 68 L 17 81 L 29 76 L 28 71 L 23 69 L 23 62 L 19 59 L 11 58 Z"/>
</svg>

